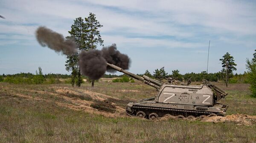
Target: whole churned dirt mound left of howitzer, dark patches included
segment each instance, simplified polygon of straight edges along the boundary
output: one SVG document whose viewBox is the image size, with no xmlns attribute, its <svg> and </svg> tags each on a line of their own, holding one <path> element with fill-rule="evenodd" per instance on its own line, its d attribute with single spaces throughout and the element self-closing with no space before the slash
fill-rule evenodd
<svg viewBox="0 0 256 143">
<path fill-rule="evenodd" d="M 9 92 L 13 94 L 8 96 L 11 98 L 19 97 L 29 101 L 54 102 L 64 108 L 82 110 L 110 118 L 126 116 L 125 107 L 129 101 L 123 101 L 119 98 L 84 89 L 68 87 L 49 88 L 50 90 L 47 91 L 9 88 Z M 22 90 L 26 94 L 15 93 L 16 90 Z M 52 100 L 52 97 L 56 97 L 55 100 Z"/>
</svg>

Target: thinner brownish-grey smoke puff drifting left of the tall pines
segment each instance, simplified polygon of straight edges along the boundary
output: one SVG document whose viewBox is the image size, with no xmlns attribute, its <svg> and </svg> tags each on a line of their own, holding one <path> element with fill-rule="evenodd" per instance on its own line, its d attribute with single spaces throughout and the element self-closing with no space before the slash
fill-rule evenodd
<svg viewBox="0 0 256 143">
<path fill-rule="evenodd" d="M 41 46 L 47 46 L 56 52 L 61 52 L 65 55 L 77 53 L 76 42 L 64 39 L 63 35 L 46 27 L 41 26 L 36 30 L 36 39 Z"/>
</svg>

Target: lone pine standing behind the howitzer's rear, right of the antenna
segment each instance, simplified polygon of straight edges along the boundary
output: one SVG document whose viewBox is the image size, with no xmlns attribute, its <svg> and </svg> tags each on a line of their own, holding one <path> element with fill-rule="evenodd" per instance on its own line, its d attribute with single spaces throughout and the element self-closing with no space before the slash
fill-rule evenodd
<svg viewBox="0 0 256 143">
<path fill-rule="evenodd" d="M 227 83 L 230 79 L 231 76 L 233 76 L 233 70 L 236 70 L 236 64 L 234 62 L 234 57 L 231 56 L 228 52 L 222 56 L 223 59 L 220 59 L 220 61 L 222 62 L 222 71 L 225 73 L 225 83 L 226 83 L 226 87 L 227 87 Z"/>
</svg>

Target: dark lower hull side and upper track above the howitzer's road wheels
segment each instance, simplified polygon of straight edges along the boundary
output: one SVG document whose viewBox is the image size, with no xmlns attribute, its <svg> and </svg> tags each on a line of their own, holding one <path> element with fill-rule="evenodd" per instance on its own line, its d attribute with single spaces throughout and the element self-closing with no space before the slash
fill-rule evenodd
<svg viewBox="0 0 256 143">
<path fill-rule="evenodd" d="M 133 112 L 127 112 L 130 116 L 136 116 L 136 113 L 139 111 L 145 112 L 145 114 L 148 115 L 152 112 L 159 115 L 159 117 L 163 117 L 166 114 L 170 114 L 173 116 L 183 115 L 184 117 L 188 116 L 194 116 L 199 117 L 201 115 L 218 115 L 218 112 L 209 112 L 209 111 L 193 111 L 193 110 L 185 110 L 185 109 L 172 109 L 172 108 L 161 108 L 161 107 L 146 107 L 146 106 L 133 106 L 131 107 Z"/>
</svg>

